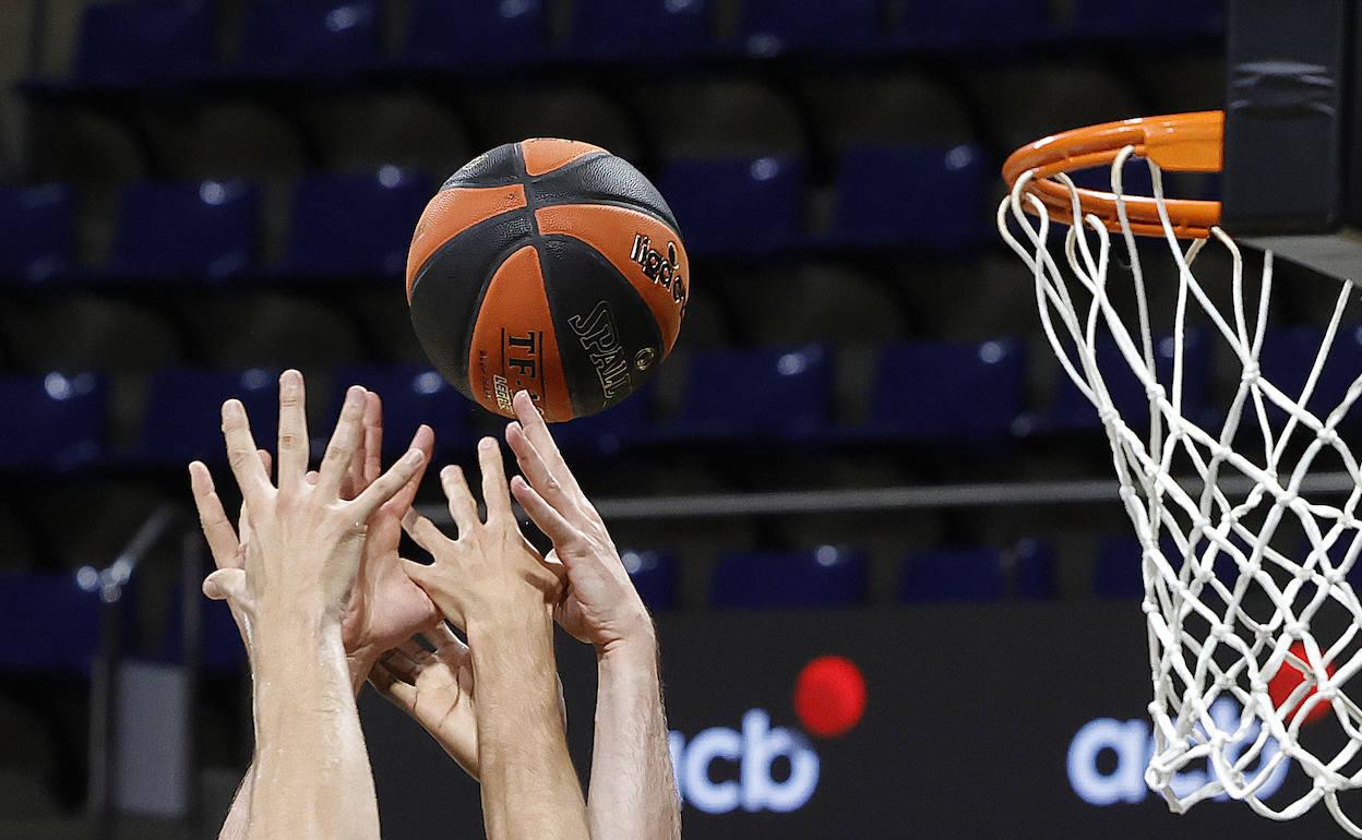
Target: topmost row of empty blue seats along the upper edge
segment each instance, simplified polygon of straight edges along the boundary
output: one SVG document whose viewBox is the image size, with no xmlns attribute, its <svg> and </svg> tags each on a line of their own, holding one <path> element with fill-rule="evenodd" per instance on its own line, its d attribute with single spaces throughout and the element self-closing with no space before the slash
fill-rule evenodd
<svg viewBox="0 0 1362 840">
<path fill-rule="evenodd" d="M 1175 7 L 1076 0 L 1057 20 L 1042 0 L 572 0 L 567 31 L 552 1 L 411 0 L 400 54 L 384 49 L 381 0 L 252 0 L 240 42 L 226 48 L 215 4 L 91 4 L 80 23 L 76 79 L 136 84 L 204 78 L 328 76 L 413 68 L 595 59 L 658 61 L 710 54 L 868 53 L 1007 46 L 1054 37 L 1186 38 L 1222 26 L 1214 0 Z M 1129 7 L 1129 8 L 1128 8 Z M 394 15 L 396 16 L 396 15 Z M 225 53 L 230 53 L 225 54 Z"/>
</svg>

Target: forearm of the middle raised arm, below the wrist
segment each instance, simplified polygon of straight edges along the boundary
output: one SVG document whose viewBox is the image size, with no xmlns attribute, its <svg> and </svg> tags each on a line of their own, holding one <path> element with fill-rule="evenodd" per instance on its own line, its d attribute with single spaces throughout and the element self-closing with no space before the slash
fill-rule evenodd
<svg viewBox="0 0 1362 840">
<path fill-rule="evenodd" d="M 558 712 L 548 610 L 470 622 L 478 766 L 489 840 L 587 840 L 582 784 Z"/>
</svg>

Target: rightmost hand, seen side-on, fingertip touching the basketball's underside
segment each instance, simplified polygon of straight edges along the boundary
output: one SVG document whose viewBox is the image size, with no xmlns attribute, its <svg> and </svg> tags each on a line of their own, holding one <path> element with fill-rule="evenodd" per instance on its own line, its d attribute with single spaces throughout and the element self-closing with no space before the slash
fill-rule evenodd
<svg viewBox="0 0 1362 840">
<path fill-rule="evenodd" d="M 518 419 L 507 425 L 507 444 L 523 476 L 511 479 L 511 493 L 553 540 L 546 560 L 561 562 L 568 576 L 554 617 L 602 653 L 631 640 L 652 640 L 652 619 L 610 532 L 568 470 L 534 400 L 520 391 L 513 406 Z"/>
</svg>

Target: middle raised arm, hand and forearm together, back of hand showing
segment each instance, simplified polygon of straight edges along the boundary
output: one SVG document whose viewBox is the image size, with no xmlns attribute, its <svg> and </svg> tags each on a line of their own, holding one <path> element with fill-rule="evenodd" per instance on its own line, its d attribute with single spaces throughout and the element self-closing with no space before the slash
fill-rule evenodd
<svg viewBox="0 0 1362 840">
<path fill-rule="evenodd" d="M 586 803 L 558 711 L 553 604 L 561 583 L 516 527 L 496 440 L 478 442 L 478 462 L 486 521 L 463 471 L 447 467 L 440 482 L 458 539 L 409 513 L 403 526 L 434 562 L 402 566 L 469 639 L 489 840 L 586 839 Z"/>
</svg>

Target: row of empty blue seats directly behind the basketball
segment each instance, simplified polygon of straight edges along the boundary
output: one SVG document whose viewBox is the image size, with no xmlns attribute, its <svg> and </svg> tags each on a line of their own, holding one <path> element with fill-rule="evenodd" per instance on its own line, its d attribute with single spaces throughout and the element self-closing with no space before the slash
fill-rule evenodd
<svg viewBox="0 0 1362 840">
<path fill-rule="evenodd" d="M 808 231 L 798 159 L 678 161 L 659 176 L 693 255 L 797 246 L 959 249 L 985 236 L 986 166 L 970 146 L 853 148 L 839 158 L 825 230 Z M 439 182 L 398 166 L 302 177 L 271 275 L 402 272 L 421 210 Z M 41 283 L 76 267 L 76 196 L 61 185 L 0 189 L 0 275 Z M 97 280 L 222 282 L 263 271 L 262 195 L 249 181 L 138 182 L 123 189 Z"/>
</svg>

